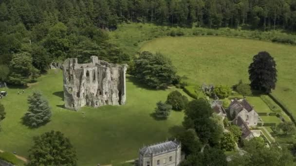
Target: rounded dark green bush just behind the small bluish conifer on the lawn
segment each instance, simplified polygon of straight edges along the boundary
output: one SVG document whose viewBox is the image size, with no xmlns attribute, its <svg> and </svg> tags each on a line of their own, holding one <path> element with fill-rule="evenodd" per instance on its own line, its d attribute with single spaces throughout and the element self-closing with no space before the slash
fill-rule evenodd
<svg viewBox="0 0 296 166">
<path fill-rule="evenodd" d="M 166 104 L 172 106 L 173 110 L 183 110 L 185 109 L 188 103 L 188 99 L 186 96 L 182 95 L 179 91 L 173 91 L 167 95 Z"/>
</svg>

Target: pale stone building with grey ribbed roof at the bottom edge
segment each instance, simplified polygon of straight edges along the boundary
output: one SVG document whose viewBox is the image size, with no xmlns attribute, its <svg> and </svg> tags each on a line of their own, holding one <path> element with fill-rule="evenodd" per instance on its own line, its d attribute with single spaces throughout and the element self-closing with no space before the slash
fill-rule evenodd
<svg viewBox="0 0 296 166">
<path fill-rule="evenodd" d="M 181 143 L 166 141 L 143 147 L 139 152 L 139 166 L 179 166 Z"/>
</svg>

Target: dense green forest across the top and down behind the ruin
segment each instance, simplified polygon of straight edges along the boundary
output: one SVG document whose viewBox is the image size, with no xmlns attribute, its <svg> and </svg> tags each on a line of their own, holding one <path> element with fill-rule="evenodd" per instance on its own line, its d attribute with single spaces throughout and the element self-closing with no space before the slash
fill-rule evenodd
<svg viewBox="0 0 296 166">
<path fill-rule="evenodd" d="M 122 22 L 293 33 L 296 0 L 0 0 L 0 81 L 24 84 L 70 57 L 128 62 L 108 41 Z"/>
</svg>

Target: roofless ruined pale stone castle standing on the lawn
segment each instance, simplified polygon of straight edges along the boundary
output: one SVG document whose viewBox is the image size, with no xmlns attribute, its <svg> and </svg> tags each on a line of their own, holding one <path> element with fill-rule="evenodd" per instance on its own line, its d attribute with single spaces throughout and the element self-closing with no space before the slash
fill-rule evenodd
<svg viewBox="0 0 296 166">
<path fill-rule="evenodd" d="M 78 110 L 87 105 L 123 105 L 126 102 L 127 65 L 115 65 L 91 57 L 91 63 L 78 64 L 77 58 L 65 60 L 65 108 Z"/>
</svg>

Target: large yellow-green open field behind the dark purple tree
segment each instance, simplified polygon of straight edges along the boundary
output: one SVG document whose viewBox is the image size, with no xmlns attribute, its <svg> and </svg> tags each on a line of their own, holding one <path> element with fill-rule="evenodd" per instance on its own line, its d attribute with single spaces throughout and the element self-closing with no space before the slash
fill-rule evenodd
<svg viewBox="0 0 296 166">
<path fill-rule="evenodd" d="M 248 83 L 248 66 L 259 51 L 268 51 L 277 62 L 277 87 L 274 95 L 296 116 L 296 47 L 251 39 L 218 36 L 162 37 L 144 44 L 141 51 L 169 56 L 178 74 L 191 84 L 234 85 Z"/>
</svg>

